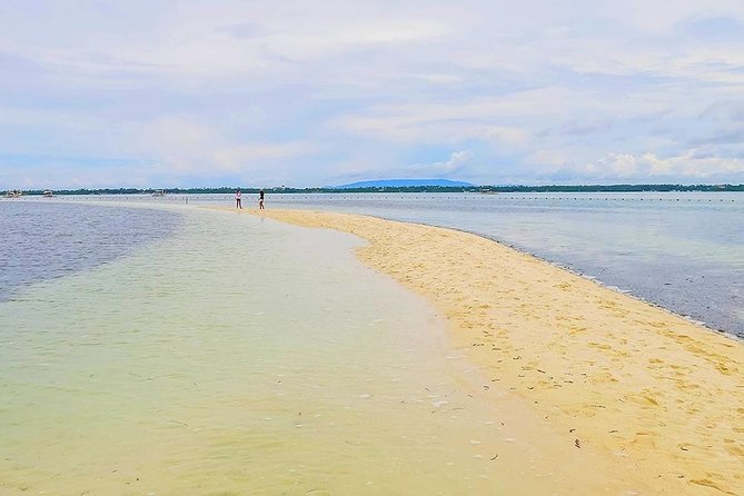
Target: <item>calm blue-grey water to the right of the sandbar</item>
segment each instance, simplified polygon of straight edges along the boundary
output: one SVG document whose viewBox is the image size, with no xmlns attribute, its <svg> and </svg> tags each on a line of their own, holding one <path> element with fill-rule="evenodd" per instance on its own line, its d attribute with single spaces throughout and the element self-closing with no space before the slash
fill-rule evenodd
<svg viewBox="0 0 744 496">
<path fill-rule="evenodd" d="M 231 198 L 201 196 L 190 201 L 230 205 Z M 284 207 L 368 214 L 476 232 L 744 337 L 744 194 L 267 198 L 267 208 Z"/>
</svg>

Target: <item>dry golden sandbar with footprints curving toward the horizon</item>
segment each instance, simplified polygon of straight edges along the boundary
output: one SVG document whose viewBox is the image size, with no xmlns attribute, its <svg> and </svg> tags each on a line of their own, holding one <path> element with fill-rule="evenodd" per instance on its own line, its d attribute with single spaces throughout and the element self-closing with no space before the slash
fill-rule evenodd
<svg viewBox="0 0 744 496">
<path fill-rule="evenodd" d="M 429 298 L 490 391 L 527 399 L 566 449 L 605 453 L 658 493 L 744 494 L 742 344 L 475 235 L 247 212 L 366 239 L 359 258 Z"/>
</svg>

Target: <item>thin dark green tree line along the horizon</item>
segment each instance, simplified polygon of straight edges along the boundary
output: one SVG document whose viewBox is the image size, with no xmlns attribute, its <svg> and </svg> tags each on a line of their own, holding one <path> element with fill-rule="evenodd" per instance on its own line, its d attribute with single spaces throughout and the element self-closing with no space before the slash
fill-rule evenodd
<svg viewBox="0 0 744 496">
<path fill-rule="evenodd" d="M 102 188 L 62 189 L 54 195 L 151 195 L 166 194 L 212 195 L 234 194 L 236 187 L 220 188 Z M 242 188 L 245 194 L 257 194 L 259 188 Z M 320 194 L 320 192 L 666 192 L 666 191 L 744 191 L 744 185 L 552 185 L 552 186 L 375 186 L 359 188 L 264 188 L 267 194 Z M 6 191 L 2 191 L 4 195 Z M 41 189 L 23 191 L 23 195 L 43 195 Z"/>
</svg>

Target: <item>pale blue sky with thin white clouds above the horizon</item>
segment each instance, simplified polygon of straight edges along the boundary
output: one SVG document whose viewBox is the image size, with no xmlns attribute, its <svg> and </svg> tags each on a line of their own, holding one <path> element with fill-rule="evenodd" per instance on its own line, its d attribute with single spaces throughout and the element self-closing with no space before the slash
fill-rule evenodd
<svg viewBox="0 0 744 496">
<path fill-rule="evenodd" d="M 742 0 L 0 0 L 0 189 L 744 182 Z"/>
</svg>

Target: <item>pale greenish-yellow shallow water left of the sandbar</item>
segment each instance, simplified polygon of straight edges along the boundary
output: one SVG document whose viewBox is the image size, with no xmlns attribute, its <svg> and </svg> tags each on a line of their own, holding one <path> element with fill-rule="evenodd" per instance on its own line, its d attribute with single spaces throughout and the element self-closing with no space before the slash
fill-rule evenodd
<svg viewBox="0 0 744 496">
<path fill-rule="evenodd" d="M 0 302 L 0 492 L 545 493 L 559 477 L 470 394 L 480 378 L 433 310 L 358 264 L 358 240 L 178 216 Z M 520 455 L 494 465 L 507 446 Z"/>
</svg>

